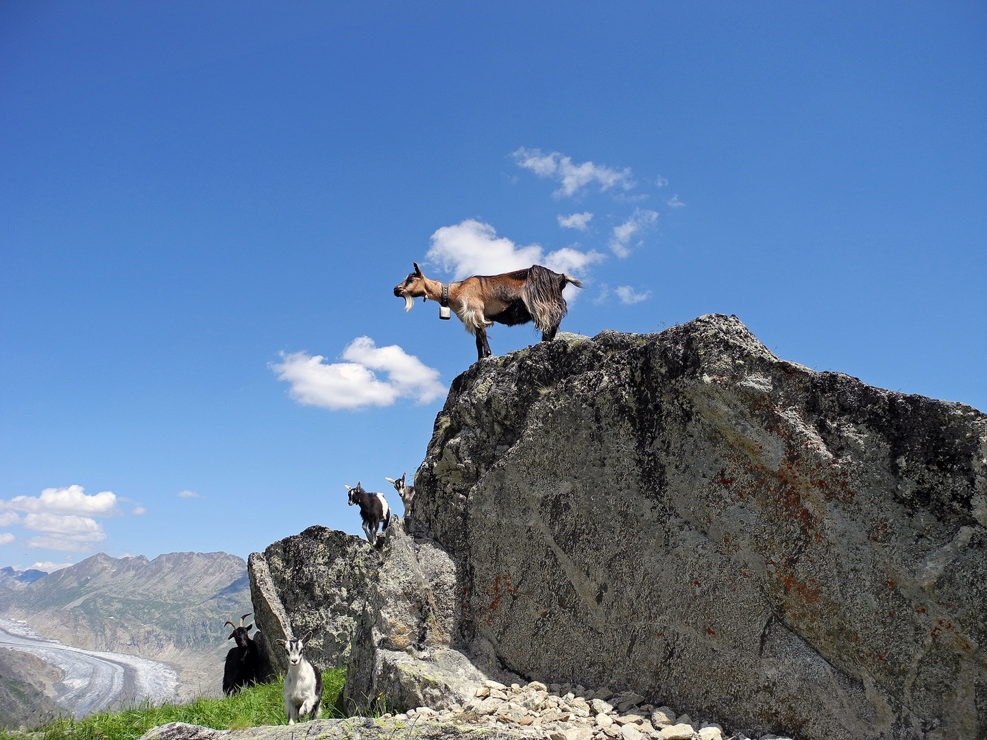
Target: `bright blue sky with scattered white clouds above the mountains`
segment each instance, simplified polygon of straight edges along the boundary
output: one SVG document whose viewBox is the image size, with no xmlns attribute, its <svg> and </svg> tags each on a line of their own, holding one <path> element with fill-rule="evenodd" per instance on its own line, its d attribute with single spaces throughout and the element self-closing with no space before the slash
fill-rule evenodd
<svg viewBox="0 0 987 740">
<path fill-rule="evenodd" d="M 476 359 L 413 260 L 562 260 L 564 331 L 736 314 L 987 408 L 985 39 L 948 1 L 0 4 L 0 561 L 359 533 L 343 483 L 412 475 Z"/>
</svg>

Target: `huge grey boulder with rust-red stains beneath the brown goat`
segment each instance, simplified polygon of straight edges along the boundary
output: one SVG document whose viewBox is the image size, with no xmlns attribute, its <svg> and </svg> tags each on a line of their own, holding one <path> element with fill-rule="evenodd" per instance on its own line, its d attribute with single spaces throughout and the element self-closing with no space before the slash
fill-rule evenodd
<svg viewBox="0 0 987 740">
<path fill-rule="evenodd" d="M 706 316 L 474 364 L 415 531 L 455 564 L 449 646 L 492 669 L 800 740 L 973 738 L 985 458 L 976 409 Z"/>
</svg>

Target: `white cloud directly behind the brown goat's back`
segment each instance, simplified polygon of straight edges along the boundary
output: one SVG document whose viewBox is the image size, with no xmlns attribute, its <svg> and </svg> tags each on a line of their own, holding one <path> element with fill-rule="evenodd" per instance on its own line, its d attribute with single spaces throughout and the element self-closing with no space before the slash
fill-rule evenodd
<svg viewBox="0 0 987 740">
<path fill-rule="evenodd" d="M 431 236 L 425 257 L 454 280 L 470 275 L 495 275 L 543 264 L 556 272 L 581 272 L 587 265 L 605 259 L 598 252 L 579 252 L 566 247 L 544 255 L 541 245 L 519 247 L 506 237 L 496 236 L 490 224 L 467 219 L 455 226 L 443 226 Z"/>
</svg>

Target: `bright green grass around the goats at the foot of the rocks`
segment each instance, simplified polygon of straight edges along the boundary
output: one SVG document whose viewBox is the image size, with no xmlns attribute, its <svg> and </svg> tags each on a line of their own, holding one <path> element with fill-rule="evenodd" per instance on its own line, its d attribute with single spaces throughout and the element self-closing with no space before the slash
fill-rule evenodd
<svg viewBox="0 0 987 740">
<path fill-rule="evenodd" d="M 322 674 L 324 717 L 342 717 L 342 683 L 345 669 Z M 253 686 L 235 697 L 200 698 L 190 704 L 140 706 L 120 711 L 103 711 L 85 719 L 57 719 L 38 727 L 43 740 L 135 740 L 151 727 L 168 722 L 188 722 L 216 730 L 256 727 L 261 724 L 285 724 L 284 679 L 266 686 Z M 19 735 L 0 730 L 0 740 Z M 23 737 L 23 735 L 20 735 Z"/>
</svg>

